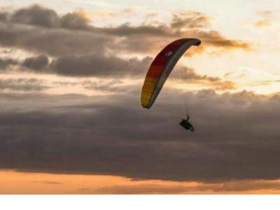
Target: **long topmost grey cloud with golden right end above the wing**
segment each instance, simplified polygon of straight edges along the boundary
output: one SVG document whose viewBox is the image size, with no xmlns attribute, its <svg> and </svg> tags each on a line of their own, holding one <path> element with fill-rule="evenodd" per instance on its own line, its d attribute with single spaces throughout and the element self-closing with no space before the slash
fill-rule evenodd
<svg viewBox="0 0 280 210">
<path fill-rule="evenodd" d="M 55 57 L 108 51 L 151 53 L 161 43 L 184 36 L 201 38 L 204 48 L 249 49 L 248 43 L 209 29 L 209 17 L 195 12 L 174 15 L 170 23 L 126 22 L 115 27 L 96 27 L 81 10 L 58 15 L 55 10 L 38 5 L 2 16 L 6 18 L 0 19 L 1 45 Z"/>
</svg>

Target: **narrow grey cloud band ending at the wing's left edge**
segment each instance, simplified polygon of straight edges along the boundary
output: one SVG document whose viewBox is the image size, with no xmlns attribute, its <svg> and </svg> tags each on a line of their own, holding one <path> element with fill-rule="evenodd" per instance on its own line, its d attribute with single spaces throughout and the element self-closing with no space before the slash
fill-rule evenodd
<svg viewBox="0 0 280 210">
<path fill-rule="evenodd" d="M 52 59 L 51 62 L 46 55 L 27 57 L 23 61 L 0 58 L 0 66 L 3 69 L 8 69 L 10 65 L 17 65 L 20 67 L 18 71 L 29 70 L 34 73 L 97 78 L 111 78 L 112 76 L 114 78 L 144 77 L 151 62 L 151 57 L 122 59 L 116 56 L 98 54 L 62 56 Z M 25 69 L 22 69 L 22 67 Z"/>
</svg>

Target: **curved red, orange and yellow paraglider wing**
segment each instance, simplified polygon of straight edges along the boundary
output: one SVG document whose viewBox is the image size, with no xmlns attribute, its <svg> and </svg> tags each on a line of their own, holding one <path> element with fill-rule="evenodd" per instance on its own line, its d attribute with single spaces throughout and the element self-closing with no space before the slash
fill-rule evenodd
<svg viewBox="0 0 280 210">
<path fill-rule="evenodd" d="M 153 60 L 146 75 L 142 87 L 141 104 L 144 108 L 150 109 L 162 90 L 165 81 L 188 48 L 192 45 L 200 45 L 197 38 L 182 38 L 169 43 Z"/>
</svg>

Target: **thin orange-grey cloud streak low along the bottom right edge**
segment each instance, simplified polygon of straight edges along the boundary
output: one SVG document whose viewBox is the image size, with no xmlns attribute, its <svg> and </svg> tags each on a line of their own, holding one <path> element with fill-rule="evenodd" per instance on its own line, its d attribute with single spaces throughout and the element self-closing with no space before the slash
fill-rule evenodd
<svg viewBox="0 0 280 210">
<path fill-rule="evenodd" d="M 225 183 L 172 183 L 172 184 L 137 184 L 128 186 L 109 186 L 84 192 L 104 194 L 231 194 L 248 193 L 253 190 L 279 190 L 279 181 L 244 180 Z"/>
</svg>

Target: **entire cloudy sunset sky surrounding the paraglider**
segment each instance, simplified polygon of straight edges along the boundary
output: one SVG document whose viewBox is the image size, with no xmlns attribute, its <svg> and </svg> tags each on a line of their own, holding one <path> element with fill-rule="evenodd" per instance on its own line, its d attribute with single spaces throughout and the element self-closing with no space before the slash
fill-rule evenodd
<svg viewBox="0 0 280 210">
<path fill-rule="evenodd" d="M 278 4 L 2 0 L 0 194 L 279 194 Z M 153 57 L 188 37 L 143 109 Z"/>
</svg>

